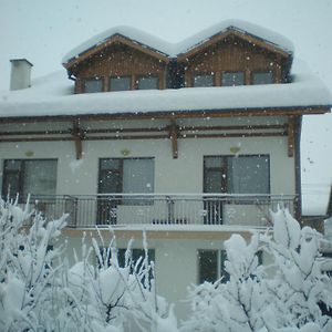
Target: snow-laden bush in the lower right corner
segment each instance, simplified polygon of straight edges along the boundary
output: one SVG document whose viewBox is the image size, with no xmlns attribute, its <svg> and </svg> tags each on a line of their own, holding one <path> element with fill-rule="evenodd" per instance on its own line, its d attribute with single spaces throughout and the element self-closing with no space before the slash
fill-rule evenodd
<svg viewBox="0 0 332 332">
<path fill-rule="evenodd" d="M 331 280 L 322 272 L 312 228 L 300 228 L 288 210 L 272 212 L 273 231 L 239 235 L 225 242 L 227 283 L 218 280 L 191 289 L 193 313 L 183 331 L 286 332 L 332 331 L 319 304 L 332 307 Z M 259 266 L 257 253 L 269 256 Z"/>
</svg>

